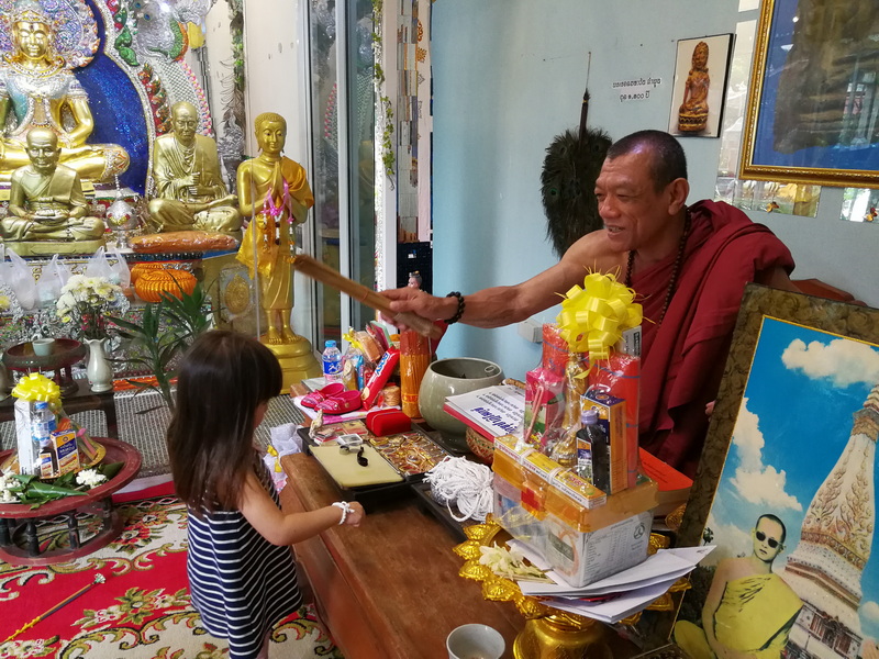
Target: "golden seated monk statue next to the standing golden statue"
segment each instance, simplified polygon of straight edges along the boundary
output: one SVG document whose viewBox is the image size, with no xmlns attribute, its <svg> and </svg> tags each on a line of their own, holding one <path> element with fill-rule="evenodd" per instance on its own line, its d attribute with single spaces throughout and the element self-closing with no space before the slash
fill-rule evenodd
<svg viewBox="0 0 879 659">
<path fill-rule="evenodd" d="M 156 138 L 151 171 L 155 198 L 149 214 L 159 231 L 216 231 L 238 237 L 237 198 L 220 174 L 216 142 L 196 130 L 199 113 L 192 103 L 171 108 L 174 131 Z"/>
</svg>

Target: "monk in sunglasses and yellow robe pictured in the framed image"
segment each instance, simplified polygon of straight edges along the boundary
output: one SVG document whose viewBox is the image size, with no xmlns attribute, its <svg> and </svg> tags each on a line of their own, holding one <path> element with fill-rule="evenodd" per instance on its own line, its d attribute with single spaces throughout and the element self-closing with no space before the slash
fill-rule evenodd
<svg viewBox="0 0 879 659">
<path fill-rule="evenodd" d="M 772 572 L 787 529 L 776 515 L 760 515 L 754 551 L 717 565 L 702 607 L 702 628 L 680 621 L 675 641 L 693 659 L 779 659 L 802 600 Z"/>
</svg>

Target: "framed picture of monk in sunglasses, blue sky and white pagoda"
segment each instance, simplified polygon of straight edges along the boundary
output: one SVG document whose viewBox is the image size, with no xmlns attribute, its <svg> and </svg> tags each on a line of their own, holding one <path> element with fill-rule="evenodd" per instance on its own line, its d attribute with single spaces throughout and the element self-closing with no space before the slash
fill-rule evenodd
<svg viewBox="0 0 879 659">
<path fill-rule="evenodd" d="M 749 284 L 680 528 L 693 659 L 879 652 L 879 310 Z"/>
</svg>

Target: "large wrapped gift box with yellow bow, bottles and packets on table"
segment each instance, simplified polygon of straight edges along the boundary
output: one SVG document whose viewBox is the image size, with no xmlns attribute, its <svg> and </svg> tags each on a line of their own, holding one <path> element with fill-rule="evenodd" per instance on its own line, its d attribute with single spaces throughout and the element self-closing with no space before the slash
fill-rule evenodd
<svg viewBox="0 0 879 659">
<path fill-rule="evenodd" d="M 494 442 L 494 518 L 582 587 L 646 559 L 657 485 L 638 460 L 641 305 L 589 273 L 544 327 L 522 436 Z"/>
</svg>

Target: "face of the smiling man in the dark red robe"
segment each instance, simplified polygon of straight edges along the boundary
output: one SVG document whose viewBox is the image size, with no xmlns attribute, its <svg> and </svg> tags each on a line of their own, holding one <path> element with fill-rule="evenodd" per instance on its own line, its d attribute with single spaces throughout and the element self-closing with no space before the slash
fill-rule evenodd
<svg viewBox="0 0 879 659">
<path fill-rule="evenodd" d="M 598 213 L 616 252 L 677 245 L 679 230 L 669 222 L 671 183 L 657 191 L 649 165 L 649 154 L 638 147 L 604 160 L 596 180 Z"/>
</svg>

